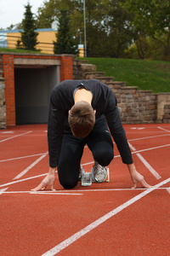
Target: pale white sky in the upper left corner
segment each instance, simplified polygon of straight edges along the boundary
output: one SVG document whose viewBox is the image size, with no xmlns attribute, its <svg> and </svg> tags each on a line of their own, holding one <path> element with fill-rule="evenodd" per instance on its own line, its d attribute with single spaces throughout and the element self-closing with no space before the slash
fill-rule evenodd
<svg viewBox="0 0 170 256">
<path fill-rule="evenodd" d="M 11 24 L 20 23 L 26 11 L 25 5 L 31 4 L 31 12 L 37 13 L 44 0 L 0 0 L 0 28 L 7 29 Z"/>
</svg>

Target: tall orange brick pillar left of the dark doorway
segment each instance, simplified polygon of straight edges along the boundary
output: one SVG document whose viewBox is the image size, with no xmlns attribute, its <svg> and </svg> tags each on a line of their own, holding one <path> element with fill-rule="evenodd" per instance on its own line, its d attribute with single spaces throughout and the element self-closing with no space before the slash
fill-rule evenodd
<svg viewBox="0 0 170 256">
<path fill-rule="evenodd" d="M 15 125 L 14 55 L 3 55 L 7 125 Z"/>
</svg>

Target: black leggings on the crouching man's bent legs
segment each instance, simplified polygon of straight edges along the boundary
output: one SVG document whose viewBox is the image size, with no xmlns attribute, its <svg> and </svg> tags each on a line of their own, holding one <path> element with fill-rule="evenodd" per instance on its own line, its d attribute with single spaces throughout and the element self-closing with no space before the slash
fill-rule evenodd
<svg viewBox="0 0 170 256">
<path fill-rule="evenodd" d="M 114 157 L 111 134 L 105 122 L 96 124 L 94 130 L 85 138 L 64 134 L 57 169 L 59 183 L 65 189 L 73 189 L 77 185 L 83 148 L 86 144 L 92 151 L 94 160 L 101 166 L 108 166 Z"/>
</svg>

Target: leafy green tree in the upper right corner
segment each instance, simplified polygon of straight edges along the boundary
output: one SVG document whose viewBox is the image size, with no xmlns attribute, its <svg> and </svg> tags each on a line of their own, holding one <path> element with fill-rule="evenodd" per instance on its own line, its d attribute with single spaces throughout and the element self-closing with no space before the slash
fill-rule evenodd
<svg viewBox="0 0 170 256">
<path fill-rule="evenodd" d="M 170 1 L 127 0 L 122 7 L 134 14 L 133 26 L 139 37 L 142 33 L 161 44 L 166 61 L 170 56 Z"/>
</svg>

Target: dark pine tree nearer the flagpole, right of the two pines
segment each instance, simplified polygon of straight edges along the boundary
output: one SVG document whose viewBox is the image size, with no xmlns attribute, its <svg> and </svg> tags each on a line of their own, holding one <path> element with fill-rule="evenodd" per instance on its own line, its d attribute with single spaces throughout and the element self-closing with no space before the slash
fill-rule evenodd
<svg viewBox="0 0 170 256">
<path fill-rule="evenodd" d="M 60 10 L 59 28 L 54 42 L 54 54 L 77 54 L 77 45 L 71 32 L 70 16 L 66 9 Z"/>
</svg>

